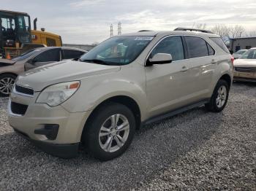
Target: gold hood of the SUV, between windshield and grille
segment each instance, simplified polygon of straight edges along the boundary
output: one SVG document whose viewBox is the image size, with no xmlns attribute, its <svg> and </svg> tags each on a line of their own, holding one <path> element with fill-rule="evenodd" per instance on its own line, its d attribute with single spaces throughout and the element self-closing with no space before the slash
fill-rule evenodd
<svg viewBox="0 0 256 191">
<path fill-rule="evenodd" d="M 79 61 L 62 61 L 50 63 L 24 72 L 18 76 L 17 84 L 29 86 L 34 91 L 59 82 L 80 80 L 99 74 L 108 74 L 119 71 L 120 66 L 106 66 L 97 63 L 86 63 Z"/>
</svg>

